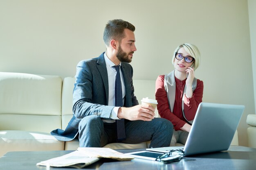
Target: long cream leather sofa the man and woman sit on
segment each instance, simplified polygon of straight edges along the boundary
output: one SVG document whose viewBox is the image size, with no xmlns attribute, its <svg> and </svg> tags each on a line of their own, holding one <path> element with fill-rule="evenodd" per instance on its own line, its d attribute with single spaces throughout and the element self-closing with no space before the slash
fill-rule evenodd
<svg viewBox="0 0 256 170">
<path fill-rule="evenodd" d="M 74 77 L 0 72 L 0 157 L 9 151 L 76 150 L 79 141 L 56 140 L 50 131 L 65 129 L 72 117 Z M 134 80 L 135 95 L 155 98 L 155 81 Z M 157 110 L 155 111 L 158 117 Z M 150 142 L 150 141 L 149 141 Z M 112 149 L 148 148 L 112 143 Z M 238 145 L 237 133 L 232 145 Z M 172 146 L 181 145 L 171 143 Z"/>
</svg>

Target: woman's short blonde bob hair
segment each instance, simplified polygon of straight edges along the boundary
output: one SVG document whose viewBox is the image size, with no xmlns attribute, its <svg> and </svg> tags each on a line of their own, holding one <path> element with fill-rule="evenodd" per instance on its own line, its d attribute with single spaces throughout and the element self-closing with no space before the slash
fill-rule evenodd
<svg viewBox="0 0 256 170">
<path fill-rule="evenodd" d="M 193 57 L 195 59 L 193 61 L 192 66 L 194 67 L 194 70 L 196 70 L 200 64 L 200 52 L 199 52 L 198 48 L 193 44 L 188 44 L 188 43 L 182 44 L 175 49 L 175 51 L 173 53 L 173 59 L 172 59 L 173 65 L 174 65 L 174 61 L 175 61 L 175 53 L 178 52 L 178 50 L 180 50 L 180 48 L 182 48 L 182 47 L 186 50 L 186 52 L 189 53 L 189 55 L 191 57 Z"/>
</svg>

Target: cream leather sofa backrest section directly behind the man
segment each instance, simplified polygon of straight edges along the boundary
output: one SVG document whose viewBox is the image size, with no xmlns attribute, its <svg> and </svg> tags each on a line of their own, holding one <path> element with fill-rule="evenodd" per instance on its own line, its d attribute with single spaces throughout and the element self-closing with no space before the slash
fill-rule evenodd
<svg viewBox="0 0 256 170">
<path fill-rule="evenodd" d="M 65 77 L 63 80 L 62 87 L 62 129 L 67 127 L 68 122 L 72 118 L 72 99 L 73 99 L 73 89 L 74 89 L 75 78 Z M 135 96 L 141 104 L 141 99 L 148 97 L 155 99 L 155 81 L 152 80 L 133 80 L 133 85 L 135 89 Z M 156 116 L 158 117 L 157 109 L 155 110 Z"/>
</svg>

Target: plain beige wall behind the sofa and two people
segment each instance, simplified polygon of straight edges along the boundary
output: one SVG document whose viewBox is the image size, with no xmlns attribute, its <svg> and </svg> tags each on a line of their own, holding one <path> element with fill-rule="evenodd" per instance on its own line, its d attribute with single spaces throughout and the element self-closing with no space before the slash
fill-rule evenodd
<svg viewBox="0 0 256 170">
<path fill-rule="evenodd" d="M 203 101 L 245 105 L 238 135 L 247 146 L 246 116 L 255 113 L 247 0 L 0 0 L 0 71 L 74 76 L 80 60 L 105 50 L 103 29 L 115 18 L 136 26 L 136 79 L 171 72 L 173 50 L 197 45 Z"/>
</svg>

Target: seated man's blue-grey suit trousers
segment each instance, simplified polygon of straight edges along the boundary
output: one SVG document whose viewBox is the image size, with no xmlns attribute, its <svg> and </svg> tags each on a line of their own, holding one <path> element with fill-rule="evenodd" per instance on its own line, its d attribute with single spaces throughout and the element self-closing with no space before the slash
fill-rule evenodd
<svg viewBox="0 0 256 170">
<path fill-rule="evenodd" d="M 139 144 L 151 140 L 150 148 L 170 146 L 173 124 L 164 118 L 152 121 L 125 121 L 127 144 Z M 115 123 L 105 123 L 99 116 L 84 117 L 79 123 L 79 146 L 102 147 L 117 142 Z"/>
</svg>

